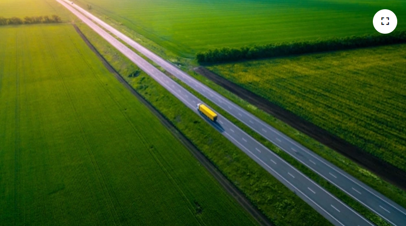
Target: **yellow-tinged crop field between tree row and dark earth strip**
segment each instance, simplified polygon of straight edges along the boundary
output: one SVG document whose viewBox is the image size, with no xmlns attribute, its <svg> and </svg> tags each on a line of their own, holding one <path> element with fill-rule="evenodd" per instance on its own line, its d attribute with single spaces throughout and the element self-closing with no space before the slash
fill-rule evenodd
<svg viewBox="0 0 406 226">
<path fill-rule="evenodd" d="M 406 170 L 406 45 L 209 69 Z"/>
</svg>

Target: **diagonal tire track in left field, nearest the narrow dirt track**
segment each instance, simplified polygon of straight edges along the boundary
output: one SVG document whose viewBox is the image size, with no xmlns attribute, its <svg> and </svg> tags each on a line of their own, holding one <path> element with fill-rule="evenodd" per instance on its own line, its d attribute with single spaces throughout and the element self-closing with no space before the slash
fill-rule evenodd
<svg viewBox="0 0 406 226">
<path fill-rule="evenodd" d="M 100 77 L 97 76 L 97 73 L 94 71 L 93 67 L 89 64 L 89 62 L 87 62 L 86 58 L 82 55 L 82 53 L 79 51 L 79 49 L 77 48 L 76 44 L 75 44 L 75 48 L 77 50 L 77 52 L 80 54 L 82 61 L 85 62 L 89 68 L 91 68 L 92 70 L 92 75 L 97 79 L 97 81 L 99 82 L 100 86 L 103 87 L 105 93 L 107 93 L 109 95 L 109 97 L 116 103 L 120 113 L 123 115 L 123 117 L 126 119 L 127 123 L 132 127 L 133 131 L 137 134 L 137 136 L 139 137 L 139 139 L 141 140 L 141 142 L 143 143 L 145 149 L 148 150 L 148 152 L 150 153 L 150 155 L 153 157 L 153 159 L 155 160 L 155 162 L 159 165 L 159 167 L 161 168 L 162 172 L 164 172 L 164 174 L 166 175 L 166 177 L 168 178 L 169 181 L 171 181 L 172 184 L 174 184 L 178 194 L 182 197 L 184 203 L 187 205 L 189 211 L 191 212 L 192 216 L 196 219 L 196 221 L 199 223 L 199 225 L 206 225 L 203 220 L 201 218 L 198 218 L 196 216 L 196 214 L 194 214 L 194 208 L 193 208 L 193 204 L 192 202 L 187 198 L 187 196 L 184 194 L 184 192 L 182 191 L 182 189 L 180 188 L 180 186 L 176 183 L 175 179 L 172 177 L 172 175 L 169 173 L 169 171 L 165 168 L 165 166 L 159 161 L 158 157 L 155 155 L 155 153 L 151 150 L 151 147 L 148 143 L 148 141 L 145 139 L 145 137 L 143 136 L 142 132 L 139 131 L 138 127 L 135 126 L 135 124 L 131 121 L 131 119 L 129 118 L 129 116 L 123 112 L 123 107 L 121 106 L 121 104 L 116 100 L 116 98 L 114 97 L 114 95 L 111 93 L 110 89 L 108 89 L 105 85 L 103 85 L 104 83 L 100 80 Z"/>
</svg>

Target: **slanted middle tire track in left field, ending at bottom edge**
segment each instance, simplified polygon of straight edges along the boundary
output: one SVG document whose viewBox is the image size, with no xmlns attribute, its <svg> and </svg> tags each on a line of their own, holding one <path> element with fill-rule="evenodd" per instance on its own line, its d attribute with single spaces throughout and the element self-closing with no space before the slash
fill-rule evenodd
<svg viewBox="0 0 406 226">
<path fill-rule="evenodd" d="M 42 30 L 42 32 L 43 32 L 43 30 Z M 43 37 L 44 37 L 45 42 L 46 42 L 46 43 L 49 43 L 48 37 L 46 36 L 46 34 L 44 34 Z M 58 75 L 59 75 L 59 77 L 60 77 L 60 79 L 61 79 L 61 81 L 62 81 L 62 86 L 63 86 L 63 90 L 64 90 L 64 92 L 65 92 L 65 95 L 66 95 L 66 96 L 68 97 L 68 99 L 69 99 L 69 102 L 70 102 L 70 105 L 71 105 L 71 110 L 72 110 L 72 112 L 73 112 L 73 113 L 75 114 L 75 116 L 76 116 L 77 123 L 79 124 L 79 129 L 80 129 L 81 135 L 82 135 L 82 136 L 81 136 L 81 137 L 82 137 L 82 140 L 83 140 L 83 142 L 84 142 L 84 144 L 85 144 L 85 146 L 86 146 L 86 147 L 85 147 L 85 148 L 86 148 L 86 151 L 87 151 L 87 153 L 88 153 L 88 155 L 89 155 L 89 157 L 90 157 L 90 159 L 91 159 L 91 163 L 92 163 L 92 166 L 93 166 L 93 170 L 95 171 L 95 173 L 96 173 L 96 175 L 97 175 L 97 177 L 96 177 L 96 178 L 97 178 L 97 182 L 98 182 L 98 184 L 100 185 L 100 187 L 101 187 L 101 189 L 102 189 L 102 191 L 103 191 L 104 199 L 105 199 L 105 201 L 107 202 L 107 204 L 109 205 L 108 209 L 109 209 L 109 211 L 110 211 L 111 217 L 112 217 L 112 219 L 113 219 L 115 225 L 121 225 L 120 220 L 119 220 L 119 217 L 118 217 L 118 214 L 117 214 L 117 212 L 116 212 L 116 209 L 115 209 L 115 208 L 110 208 L 111 205 L 113 205 L 113 207 L 114 207 L 114 202 L 113 202 L 112 197 L 110 196 L 110 194 L 109 194 L 109 192 L 108 192 L 108 188 L 107 188 L 107 185 L 105 184 L 105 181 L 104 181 L 103 176 L 102 176 L 102 174 L 101 174 L 100 167 L 99 167 L 98 164 L 97 164 L 97 161 L 96 161 L 96 158 L 95 158 L 95 156 L 94 156 L 93 150 L 92 150 L 92 148 L 91 148 L 91 146 L 90 146 L 90 143 L 89 143 L 89 140 L 88 140 L 88 138 L 87 138 L 87 136 L 86 136 L 83 123 L 81 122 L 80 117 L 79 117 L 79 114 L 77 113 L 76 106 L 75 106 L 75 104 L 73 103 L 73 95 L 69 92 L 69 89 L 68 89 L 68 87 L 67 87 L 67 85 L 66 85 L 66 82 L 65 82 L 63 76 L 60 76 L 60 75 L 61 75 L 61 72 L 60 72 L 60 70 L 59 70 L 59 67 L 58 67 L 58 64 L 57 64 L 57 61 L 56 61 L 55 54 L 54 54 L 54 52 L 52 51 L 52 49 L 50 48 L 50 45 L 49 45 L 49 44 L 47 44 L 47 48 L 48 48 L 48 50 L 49 50 L 49 52 L 50 52 L 50 56 L 51 56 L 51 58 L 52 58 L 52 60 L 53 60 L 53 63 L 54 63 L 54 65 L 55 65 L 55 69 L 57 70 L 57 73 L 58 73 Z"/>
</svg>

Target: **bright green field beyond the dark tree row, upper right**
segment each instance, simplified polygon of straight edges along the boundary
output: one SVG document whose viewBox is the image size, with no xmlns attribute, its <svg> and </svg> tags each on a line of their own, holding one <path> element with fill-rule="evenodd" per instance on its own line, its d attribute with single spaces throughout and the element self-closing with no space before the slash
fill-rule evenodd
<svg viewBox="0 0 406 226">
<path fill-rule="evenodd" d="M 392 10 L 406 28 L 403 0 L 75 0 L 186 57 L 217 47 L 375 33 Z M 86 8 L 87 9 L 87 8 Z"/>
</svg>

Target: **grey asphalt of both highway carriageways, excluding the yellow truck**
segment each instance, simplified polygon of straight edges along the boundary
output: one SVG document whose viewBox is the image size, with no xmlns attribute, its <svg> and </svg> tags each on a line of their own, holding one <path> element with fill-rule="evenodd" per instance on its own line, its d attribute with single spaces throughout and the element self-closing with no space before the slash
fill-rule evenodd
<svg viewBox="0 0 406 226">
<path fill-rule="evenodd" d="M 81 9 L 75 4 L 71 4 L 71 2 L 69 1 L 66 1 L 68 4 L 63 3 L 63 0 L 57 1 L 67 7 L 75 15 L 77 15 L 79 19 L 88 24 L 99 35 L 109 41 L 120 52 L 122 52 L 131 61 L 137 64 L 143 71 L 145 71 L 167 90 L 169 90 L 172 94 L 174 94 L 174 96 L 176 96 L 180 101 L 185 103 L 189 108 L 193 109 L 193 111 L 195 111 L 197 114 L 199 113 L 196 110 L 195 105 L 197 103 L 201 103 L 200 100 L 189 93 L 186 89 L 178 85 L 172 79 L 168 78 L 165 74 L 157 70 L 150 63 L 146 62 L 144 59 L 136 55 L 131 49 L 126 47 L 121 42 L 117 41 L 115 38 L 98 27 L 92 21 L 96 21 L 105 29 L 116 35 L 118 38 L 130 44 L 137 51 L 141 52 L 142 54 L 162 66 L 168 72 L 193 87 L 196 91 L 200 92 L 202 95 L 213 101 L 213 103 L 218 104 L 224 110 L 232 114 L 235 118 L 250 126 L 253 130 L 266 137 L 272 143 L 290 153 L 290 155 L 292 155 L 294 158 L 307 165 L 309 168 L 313 169 L 315 172 L 329 180 L 332 184 L 340 187 L 342 190 L 344 190 L 353 198 L 357 199 L 359 202 L 366 205 L 372 211 L 378 213 L 379 215 L 382 214 L 381 216 L 387 219 L 387 221 L 389 221 L 393 225 L 405 225 L 406 211 L 399 205 L 388 200 L 385 196 L 379 194 L 378 192 L 352 178 L 342 170 L 323 160 L 321 157 L 315 155 L 300 144 L 292 141 L 289 137 L 285 136 L 270 125 L 252 116 L 244 109 L 217 94 L 202 83 L 196 81 L 195 79 L 175 67 L 173 64 L 159 58 L 148 49 L 140 46 L 135 41 L 121 34 L 116 29 L 89 14 L 87 11 Z M 82 14 L 78 13 L 71 6 L 80 10 L 87 17 L 91 18 L 92 21 L 84 17 Z M 264 147 L 262 144 L 255 141 L 244 131 L 229 122 L 227 119 L 221 117 L 221 115 L 219 115 L 219 119 L 217 121 L 218 123 L 212 123 L 209 120 L 206 121 L 213 127 L 215 127 L 219 132 L 221 132 L 233 144 L 237 145 L 241 150 L 247 153 L 247 155 L 249 155 L 254 161 L 268 170 L 284 185 L 293 190 L 298 196 L 300 196 L 309 205 L 311 205 L 323 216 L 325 216 L 334 225 L 372 225 L 354 210 L 349 208 L 347 205 L 344 205 L 341 201 L 333 197 L 319 185 L 315 184 L 309 178 L 297 171 L 290 164 L 286 163 L 284 160 L 280 159 L 277 155 Z"/>
</svg>

